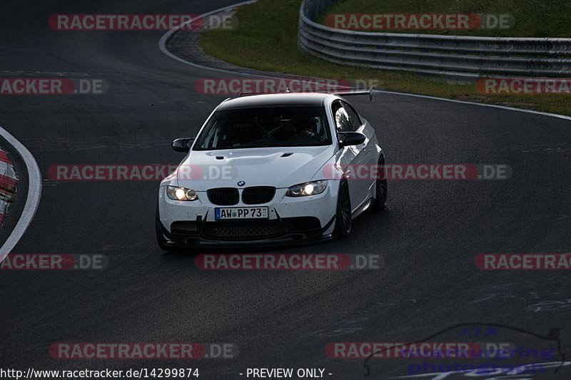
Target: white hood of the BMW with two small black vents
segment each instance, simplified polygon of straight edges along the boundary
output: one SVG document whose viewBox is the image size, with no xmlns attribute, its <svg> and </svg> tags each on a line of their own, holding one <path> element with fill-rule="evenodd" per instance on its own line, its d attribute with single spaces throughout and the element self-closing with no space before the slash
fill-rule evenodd
<svg viewBox="0 0 571 380">
<path fill-rule="evenodd" d="M 312 180 L 332 156 L 331 145 L 191 150 L 176 170 L 176 179 L 178 186 L 196 191 L 242 186 L 289 188 Z"/>
</svg>

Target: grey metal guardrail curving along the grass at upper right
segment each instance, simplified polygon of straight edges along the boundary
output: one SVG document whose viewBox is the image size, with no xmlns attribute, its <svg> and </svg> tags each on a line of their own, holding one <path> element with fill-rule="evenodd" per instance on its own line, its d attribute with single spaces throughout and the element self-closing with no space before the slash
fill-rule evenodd
<svg viewBox="0 0 571 380">
<path fill-rule="evenodd" d="M 333 63 L 457 78 L 571 75 L 571 38 L 371 33 L 315 22 L 335 0 L 303 0 L 298 46 Z"/>
</svg>

